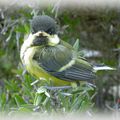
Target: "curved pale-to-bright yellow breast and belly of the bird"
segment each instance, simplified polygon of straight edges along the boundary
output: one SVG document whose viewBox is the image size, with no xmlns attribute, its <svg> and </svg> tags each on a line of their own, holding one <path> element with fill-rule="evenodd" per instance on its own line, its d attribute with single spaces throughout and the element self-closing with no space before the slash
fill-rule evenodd
<svg viewBox="0 0 120 120">
<path fill-rule="evenodd" d="M 35 76 L 37 79 L 45 78 L 46 80 L 52 82 L 53 85 L 63 86 L 70 85 L 71 82 L 58 79 L 54 76 L 48 74 L 44 69 L 42 69 L 37 61 L 33 59 L 34 54 L 36 53 L 39 47 L 30 47 L 24 52 L 24 57 L 22 58 L 23 64 L 25 65 L 27 71 Z"/>
</svg>

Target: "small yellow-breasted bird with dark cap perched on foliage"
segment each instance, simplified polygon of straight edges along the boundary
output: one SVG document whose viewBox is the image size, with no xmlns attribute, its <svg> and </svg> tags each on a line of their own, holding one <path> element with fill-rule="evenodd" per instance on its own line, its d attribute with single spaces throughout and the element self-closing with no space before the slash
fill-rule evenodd
<svg viewBox="0 0 120 120">
<path fill-rule="evenodd" d="M 58 36 L 56 21 L 47 15 L 33 17 L 31 32 L 24 40 L 20 58 L 26 70 L 51 86 L 94 83 L 93 65 Z"/>
</svg>

